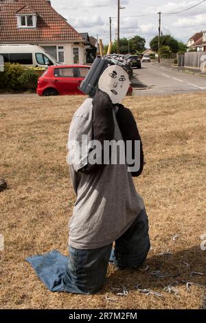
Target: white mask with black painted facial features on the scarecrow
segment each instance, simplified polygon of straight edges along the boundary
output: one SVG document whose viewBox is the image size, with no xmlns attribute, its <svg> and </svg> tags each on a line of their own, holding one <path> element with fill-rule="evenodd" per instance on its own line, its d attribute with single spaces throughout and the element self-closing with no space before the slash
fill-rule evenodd
<svg viewBox="0 0 206 323">
<path fill-rule="evenodd" d="M 119 65 L 111 65 L 100 76 L 99 89 L 108 94 L 113 104 L 121 103 L 130 85 L 127 72 Z"/>
</svg>

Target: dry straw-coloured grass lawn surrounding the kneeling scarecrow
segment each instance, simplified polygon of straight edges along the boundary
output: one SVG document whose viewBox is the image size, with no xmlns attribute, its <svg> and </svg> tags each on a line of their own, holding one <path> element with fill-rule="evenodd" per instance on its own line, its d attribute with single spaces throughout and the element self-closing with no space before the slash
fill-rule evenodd
<svg viewBox="0 0 206 323">
<path fill-rule="evenodd" d="M 138 121 L 146 166 L 135 179 L 150 219 L 152 250 L 149 271 L 117 271 L 109 267 L 104 289 L 94 296 L 51 293 L 38 280 L 25 258 L 58 249 L 67 254 L 67 223 L 75 195 L 66 164 L 69 122 L 83 97 L 38 98 L 35 95 L 0 98 L 0 177 L 8 190 L 0 193 L 0 307 L 32 309 L 198 309 L 203 306 L 205 252 L 200 236 L 205 223 L 205 107 L 206 93 L 135 97 L 125 100 Z M 179 239 L 172 240 L 178 235 Z M 162 252 L 172 255 L 160 256 Z M 186 267 L 180 261 L 190 264 Z M 161 270 L 165 278 L 150 271 Z M 177 282 L 179 296 L 163 287 Z M 163 294 L 146 296 L 141 283 Z M 125 285 L 127 297 L 111 287 Z M 106 300 L 106 296 L 115 301 Z"/>
</svg>

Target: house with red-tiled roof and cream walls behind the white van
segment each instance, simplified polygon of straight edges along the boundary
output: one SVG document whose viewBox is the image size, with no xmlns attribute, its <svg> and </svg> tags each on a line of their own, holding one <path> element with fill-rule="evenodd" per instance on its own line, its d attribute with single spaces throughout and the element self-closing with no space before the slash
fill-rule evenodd
<svg viewBox="0 0 206 323">
<path fill-rule="evenodd" d="M 40 45 L 60 63 L 87 63 L 87 41 L 47 0 L 1 0 L 1 44 Z"/>
</svg>

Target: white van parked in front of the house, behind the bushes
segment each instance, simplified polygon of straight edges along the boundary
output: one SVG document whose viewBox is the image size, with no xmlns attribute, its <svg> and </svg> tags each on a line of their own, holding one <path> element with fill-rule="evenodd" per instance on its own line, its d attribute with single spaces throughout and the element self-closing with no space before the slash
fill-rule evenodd
<svg viewBox="0 0 206 323">
<path fill-rule="evenodd" d="M 19 63 L 28 67 L 61 65 L 38 45 L 0 45 L 4 63 Z"/>
</svg>

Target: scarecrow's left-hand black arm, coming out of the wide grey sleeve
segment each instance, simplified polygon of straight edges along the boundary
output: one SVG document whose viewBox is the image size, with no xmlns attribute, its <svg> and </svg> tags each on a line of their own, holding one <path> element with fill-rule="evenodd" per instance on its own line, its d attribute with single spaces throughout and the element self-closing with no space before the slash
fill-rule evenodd
<svg viewBox="0 0 206 323">
<path fill-rule="evenodd" d="M 115 123 L 113 119 L 113 103 L 108 94 L 98 90 L 92 101 L 93 104 L 93 140 L 98 140 L 102 145 L 100 156 L 97 159 L 101 164 L 89 164 L 89 157 L 87 166 L 82 168 L 80 172 L 85 174 L 92 174 L 102 170 L 104 167 L 104 140 L 113 140 L 115 133 Z M 92 149 L 91 149 L 92 151 Z M 89 152 L 89 155 L 91 154 Z"/>
</svg>

